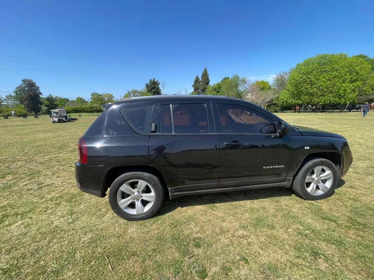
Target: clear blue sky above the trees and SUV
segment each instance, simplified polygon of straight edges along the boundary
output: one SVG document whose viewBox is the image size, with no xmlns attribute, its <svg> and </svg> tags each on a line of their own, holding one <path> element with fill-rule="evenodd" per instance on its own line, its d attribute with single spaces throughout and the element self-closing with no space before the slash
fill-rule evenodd
<svg viewBox="0 0 374 280">
<path fill-rule="evenodd" d="M 30 78 L 43 94 L 120 97 L 156 78 L 165 93 L 190 92 L 204 67 L 211 83 L 234 74 L 270 81 L 319 53 L 374 57 L 373 8 L 373 0 L 2 1 L 0 91 Z"/>
</svg>

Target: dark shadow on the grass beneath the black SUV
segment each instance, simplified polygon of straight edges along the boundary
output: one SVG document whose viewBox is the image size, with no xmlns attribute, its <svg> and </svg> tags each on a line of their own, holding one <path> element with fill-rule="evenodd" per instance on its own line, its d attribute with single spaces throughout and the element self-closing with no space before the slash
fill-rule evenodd
<svg viewBox="0 0 374 280">
<path fill-rule="evenodd" d="M 339 179 L 335 189 L 340 188 L 345 183 L 346 182 L 343 179 Z M 293 194 L 294 192 L 292 192 L 291 188 L 272 187 L 264 189 L 240 190 L 227 193 L 190 195 L 178 197 L 176 199 L 170 199 L 168 196 L 166 196 L 156 216 L 167 214 L 180 207 L 266 199 L 271 197 L 292 196 Z"/>
</svg>

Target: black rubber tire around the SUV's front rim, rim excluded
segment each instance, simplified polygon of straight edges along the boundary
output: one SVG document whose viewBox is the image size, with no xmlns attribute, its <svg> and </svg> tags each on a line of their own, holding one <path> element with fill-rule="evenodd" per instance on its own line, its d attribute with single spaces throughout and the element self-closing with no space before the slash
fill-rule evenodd
<svg viewBox="0 0 374 280">
<path fill-rule="evenodd" d="M 331 172 L 334 175 L 333 181 L 332 181 L 330 189 L 327 192 L 325 192 L 324 194 L 322 194 L 322 195 L 311 195 L 306 190 L 305 179 L 306 179 L 306 176 L 308 175 L 310 170 L 312 170 L 313 168 L 315 168 L 317 166 L 320 166 L 320 165 L 324 165 L 324 166 L 328 167 L 329 169 L 331 169 Z M 296 174 L 294 182 L 292 184 L 292 190 L 298 196 L 301 196 L 303 199 L 306 199 L 306 200 L 320 200 L 320 199 L 324 199 L 326 197 L 332 196 L 334 194 L 335 187 L 336 187 L 336 184 L 338 183 L 338 180 L 339 180 L 339 172 L 338 172 L 337 168 L 335 167 L 335 165 L 331 161 L 329 161 L 327 159 L 324 159 L 324 158 L 310 158 L 310 159 L 307 159 L 303 163 L 299 172 Z"/>
</svg>

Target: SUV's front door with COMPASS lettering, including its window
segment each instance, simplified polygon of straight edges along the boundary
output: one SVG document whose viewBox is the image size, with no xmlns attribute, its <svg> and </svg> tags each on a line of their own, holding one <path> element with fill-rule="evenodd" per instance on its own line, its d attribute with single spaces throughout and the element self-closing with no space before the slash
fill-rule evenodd
<svg viewBox="0 0 374 280">
<path fill-rule="evenodd" d="M 212 105 L 221 150 L 219 188 L 283 182 L 292 161 L 292 139 L 275 121 L 247 106 Z"/>
</svg>

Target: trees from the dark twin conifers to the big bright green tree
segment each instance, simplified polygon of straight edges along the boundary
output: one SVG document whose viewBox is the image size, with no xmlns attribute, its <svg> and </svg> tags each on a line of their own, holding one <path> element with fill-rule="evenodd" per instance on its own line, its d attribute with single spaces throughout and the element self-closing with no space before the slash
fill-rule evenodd
<svg viewBox="0 0 374 280">
<path fill-rule="evenodd" d="M 208 81 L 208 83 L 206 82 Z M 269 111 L 294 105 L 357 104 L 374 101 L 374 59 L 344 53 L 310 57 L 269 81 L 251 82 L 233 75 L 209 84 L 205 68 L 194 78 L 191 94 L 223 95 L 253 102 Z"/>
</svg>

